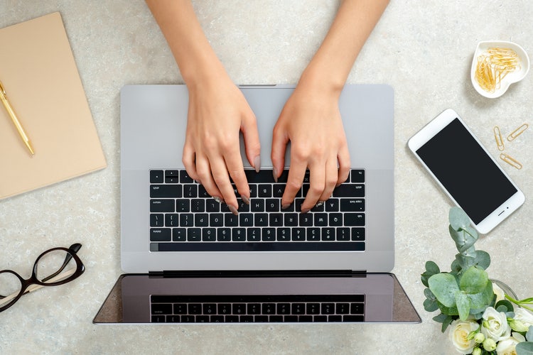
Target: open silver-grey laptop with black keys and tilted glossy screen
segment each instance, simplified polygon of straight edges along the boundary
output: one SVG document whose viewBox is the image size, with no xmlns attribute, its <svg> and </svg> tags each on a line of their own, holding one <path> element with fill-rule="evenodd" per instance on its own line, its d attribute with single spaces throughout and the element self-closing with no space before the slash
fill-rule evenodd
<svg viewBox="0 0 533 355">
<path fill-rule="evenodd" d="M 421 322 L 394 274 L 394 95 L 347 84 L 340 112 L 350 178 L 306 214 L 271 172 L 272 129 L 293 85 L 240 89 L 262 167 L 241 155 L 251 198 L 235 216 L 181 162 L 185 85 L 121 92 L 121 275 L 95 323 Z M 290 148 L 286 152 L 289 168 Z M 285 180 L 286 181 L 286 180 Z"/>
</svg>

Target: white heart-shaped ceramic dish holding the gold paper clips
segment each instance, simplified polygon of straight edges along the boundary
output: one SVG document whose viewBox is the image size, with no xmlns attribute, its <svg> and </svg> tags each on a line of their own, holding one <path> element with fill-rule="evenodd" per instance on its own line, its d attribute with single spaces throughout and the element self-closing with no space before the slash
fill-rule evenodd
<svg viewBox="0 0 533 355">
<path fill-rule="evenodd" d="M 505 75 L 500 82 L 500 87 L 497 87 L 494 92 L 488 92 L 485 91 L 485 89 L 482 89 L 478 81 L 475 80 L 475 70 L 478 67 L 478 57 L 485 53 L 488 48 L 493 47 L 510 48 L 515 50 L 520 58 L 520 67 L 514 72 L 510 72 L 509 74 Z M 500 97 L 502 94 L 505 94 L 510 84 L 524 79 L 524 77 L 527 75 L 527 72 L 529 72 L 529 57 L 527 56 L 524 48 L 520 47 L 516 43 L 507 42 L 505 40 L 490 40 L 478 43 L 478 48 L 475 48 L 474 58 L 472 60 L 472 69 L 470 70 L 470 80 L 472 80 L 475 91 L 479 92 L 484 97 L 495 99 L 496 97 Z"/>
</svg>

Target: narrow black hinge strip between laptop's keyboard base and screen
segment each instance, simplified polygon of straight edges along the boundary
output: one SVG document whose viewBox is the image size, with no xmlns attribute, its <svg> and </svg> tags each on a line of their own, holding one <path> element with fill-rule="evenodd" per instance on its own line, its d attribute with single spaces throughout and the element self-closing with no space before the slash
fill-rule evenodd
<svg viewBox="0 0 533 355">
<path fill-rule="evenodd" d="M 267 270 L 267 271 L 151 271 L 151 278 L 346 278 L 365 277 L 366 271 L 352 270 Z"/>
</svg>

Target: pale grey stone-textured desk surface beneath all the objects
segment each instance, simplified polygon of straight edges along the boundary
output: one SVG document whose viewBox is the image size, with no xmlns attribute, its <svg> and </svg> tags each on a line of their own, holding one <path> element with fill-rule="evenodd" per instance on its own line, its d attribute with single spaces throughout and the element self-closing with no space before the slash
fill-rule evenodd
<svg viewBox="0 0 533 355">
<path fill-rule="evenodd" d="M 239 84 L 295 83 L 321 43 L 338 1 L 195 1 L 206 35 Z M 29 276 L 41 251 L 80 242 L 87 271 L 68 285 L 26 295 L 0 315 L 0 354 L 346 353 L 448 354 L 434 314 L 424 311 L 420 273 L 456 253 L 448 235 L 451 202 L 408 152 L 409 137 L 448 107 L 489 148 L 492 127 L 533 123 L 533 74 L 499 99 L 470 84 L 481 40 L 511 40 L 533 55 L 529 0 L 391 1 L 350 72 L 350 83 L 385 83 L 395 104 L 395 267 L 421 324 L 237 324 L 97 326 L 99 306 L 120 275 L 119 90 L 124 84 L 182 83 L 141 0 L 0 0 L 0 27 L 54 11 L 63 16 L 108 167 L 0 201 L 0 269 Z M 0 51 L 6 50 L 1 48 Z M 1 68 L 0 68 L 1 75 Z M 502 163 L 526 195 L 524 206 L 484 236 L 490 276 L 521 297 L 531 280 L 533 131 L 513 143 L 522 170 Z M 5 154 L 6 152 L 1 152 Z M 468 173 L 468 162 L 458 165 Z M 155 350 L 155 351 L 154 351 Z"/>
</svg>

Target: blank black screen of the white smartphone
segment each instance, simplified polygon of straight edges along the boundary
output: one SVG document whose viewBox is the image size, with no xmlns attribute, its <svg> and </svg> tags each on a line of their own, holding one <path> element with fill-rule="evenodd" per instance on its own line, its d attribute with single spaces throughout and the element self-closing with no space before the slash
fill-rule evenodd
<svg viewBox="0 0 533 355">
<path fill-rule="evenodd" d="M 458 119 L 416 153 L 475 224 L 517 192 Z"/>
</svg>

